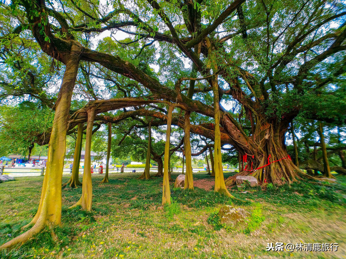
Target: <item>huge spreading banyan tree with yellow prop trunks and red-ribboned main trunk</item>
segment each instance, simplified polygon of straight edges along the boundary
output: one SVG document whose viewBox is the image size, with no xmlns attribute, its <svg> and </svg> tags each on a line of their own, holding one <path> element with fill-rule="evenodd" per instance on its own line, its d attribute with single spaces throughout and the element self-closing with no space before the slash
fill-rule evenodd
<svg viewBox="0 0 346 259">
<path fill-rule="evenodd" d="M 293 119 L 303 114 L 345 122 L 345 87 L 339 80 L 346 71 L 342 2 L 19 0 L 2 8 L 12 10 L 4 12 L 12 22 L 2 41 L 18 43 L 14 39 L 30 35 L 64 74 L 53 126 L 45 135 L 49 159 L 33 227 L 1 248 L 61 223 L 66 133 L 81 123 L 88 124 L 86 151 L 95 121 L 113 125 L 151 117 L 153 126 L 167 125 L 163 201 L 170 202 L 171 125 L 185 132 L 185 188 L 193 188 L 192 133 L 213 141 L 215 191 L 231 196 L 226 185 L 234 177 L 224 181 L 222 146 L 242 157 L 239 174 L 260 183 L 290 183 L 307 176 L 286 151 Z M 105 94 L 99 85 L 117 92 Z M 89 102 L 71 110 L 75 87 L 84 89 Z M 327 104 L 331 96 L 339 105 Z M 36 97 L 46 101 L 45 95 Z M 85 170 L 77 204 L 90 211 L 91 196 Z"/>
</svg>

